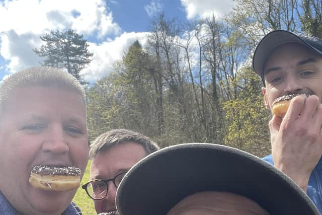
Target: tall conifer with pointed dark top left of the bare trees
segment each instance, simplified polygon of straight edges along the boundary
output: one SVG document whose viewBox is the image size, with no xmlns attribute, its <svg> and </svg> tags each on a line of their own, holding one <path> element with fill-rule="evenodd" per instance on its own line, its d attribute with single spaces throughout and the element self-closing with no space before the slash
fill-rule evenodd
<svg viewBox="0 0 322 215">
<path fill-rule="evenodd" d="M 127 116 L 126 127 L 134 124 L 138 130 L 156 132 L 151 63 L 141 44 L 135 41 L 114 68 L 120 74 L 117 81 L 122 91 L 122 115 Z"/>
</svg>

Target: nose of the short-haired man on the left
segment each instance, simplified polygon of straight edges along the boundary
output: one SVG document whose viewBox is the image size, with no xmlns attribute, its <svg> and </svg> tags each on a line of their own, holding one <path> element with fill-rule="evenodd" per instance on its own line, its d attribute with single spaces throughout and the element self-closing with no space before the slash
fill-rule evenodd
<svg viewBox="0 0 322 215">
<path fill-rule="evenodd" d="M 45 135 L 45 140 L 42 145 L 43 151 L 53 153 L 65 153 L 69 151 L 67 141 L 64 137 L 64 130 L 60 125 L 49 127 Z"/>
</svg>

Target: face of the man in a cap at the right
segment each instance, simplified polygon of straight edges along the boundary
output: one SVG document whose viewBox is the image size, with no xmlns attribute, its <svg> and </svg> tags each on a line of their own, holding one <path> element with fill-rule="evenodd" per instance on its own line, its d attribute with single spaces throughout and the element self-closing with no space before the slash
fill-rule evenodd
<svg viewBox="0 0 322 215">
<path fill-rule="evenodd" d="M 276 48 L 265 67 L 263 94 L 267 108 L 283 95 L 315 94 L 322 101 L 322 57 L 303 45 L 288 43 Z"/>
</svg>

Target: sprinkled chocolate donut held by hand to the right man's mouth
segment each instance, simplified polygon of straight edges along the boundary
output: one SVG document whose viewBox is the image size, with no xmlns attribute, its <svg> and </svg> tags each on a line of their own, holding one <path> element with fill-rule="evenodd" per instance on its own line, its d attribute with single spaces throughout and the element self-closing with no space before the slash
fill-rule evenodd
<svg viewBox="0 0 322 215">
<path fill-rule="evenodd" d="M 273 114 L 279 117 L 284 117 L 288 109 L 288 106 L 290 105 L 291 99 L 299 95 L 305 95 L 306 97 L 309 96 L 308 94 L 305 94 L 305 93 L 302 93 L 302 94 L 295 93 L 291 95 L 281 96 L 275 99 L 273 102 L 273 109 L 272 109 Z"/>
</svg>

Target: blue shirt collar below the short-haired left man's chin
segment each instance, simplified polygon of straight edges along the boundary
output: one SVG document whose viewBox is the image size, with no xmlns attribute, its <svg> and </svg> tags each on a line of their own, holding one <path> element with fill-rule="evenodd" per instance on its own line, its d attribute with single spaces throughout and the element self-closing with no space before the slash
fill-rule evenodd
<svg viewBox="0 0 322 215">
<path fill-rule="evenodd" d="M 21 215 L 5 198 L 5 196 L 0 192 L 0 214 L 6 215 Z M 62 215 L 79 215 L 75 206 L 69 204 Z"/>
</svg>

